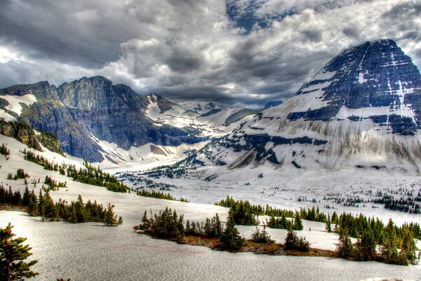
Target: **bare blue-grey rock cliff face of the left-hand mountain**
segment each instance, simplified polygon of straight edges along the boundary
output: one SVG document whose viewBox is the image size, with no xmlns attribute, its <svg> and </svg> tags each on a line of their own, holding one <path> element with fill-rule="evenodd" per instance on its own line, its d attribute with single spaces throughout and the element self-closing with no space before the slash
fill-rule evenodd
<svg viewBox="0 0 421 281">
<path fill-rule="evenodd" d="M 207 139 L 196 136 L 194 130 L 156 126 L 145 115 L 151 98 L 164 111 L 171 108 L 171 102 L 157 95 L 139 96 L 128 86 L 113 85 L 105 77 L 83 77 L 57 88 L 44 81 L 0 90 L 1 96 L 28 94 L 36 102 L 30 106 L 20 103 L 20 115 L 11 112 L 16 119 L 34 129 L 55 133 L 65 152 L 90 162 L 104 159 L 98 140 L 127 150 L 145 143 L 180 145 Z"/>
</svg>

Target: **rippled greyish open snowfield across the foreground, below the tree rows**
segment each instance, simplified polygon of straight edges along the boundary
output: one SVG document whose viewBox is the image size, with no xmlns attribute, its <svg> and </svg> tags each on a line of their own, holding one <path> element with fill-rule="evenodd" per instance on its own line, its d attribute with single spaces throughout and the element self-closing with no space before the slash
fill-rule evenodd
<svg viewBox="0 0 421 281">
<path fill-rule="evenodd" d="M 111 198 L 110 198 L 111 199 Z M 152 202 L 149 202 L 151 204 Z M 126 204 L 127 205 L 127 204 Z M 138 207 L 147 206 L 139 200 Z M 196 215 L 200 208 L 178 206 Z M 120 204 L 116 211 L 127 209 Z M 125 216 L 123 226 L 98 223 L 42 223 L 39 218 L 0 211 L 0 226 L 12 221 L 13 232 L 28 237 L 32 258 L 39 259 L 32 280 L 363 280 L 374 277 L 420 280 L 420 266 L 392 266 L 377 262 L 298 256 L 230 254 L 206 247 L 180 245 L 133 232 Z"/>
</svg>

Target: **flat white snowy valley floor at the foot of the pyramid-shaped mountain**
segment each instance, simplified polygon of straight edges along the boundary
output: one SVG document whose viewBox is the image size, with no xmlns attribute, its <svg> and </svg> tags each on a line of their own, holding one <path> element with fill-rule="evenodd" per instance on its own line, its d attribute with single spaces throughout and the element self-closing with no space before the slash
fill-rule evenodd
<svg viewBox="0 0 421 281">
<path fill-rule="evenodd" d="M 373 169 L 374 170 L 374 169 Z M 114 172 L 117 170 L 114 169 Z M 191 174 L 190 174 L 191 173 Z M 133 173 L 137 176 L 138 173 Z M 215 175 L 211 181 L 204 178 Z M 175 197 L 183 197 L 190 202 L 213 204 L 225 199 L 227 195 L 235 200 L 249 200 L 253 204 L 284 209 L 300 209 L 300 207 L 319 207 L 321 211 L 332 214 L 333 211 L 352 214 L 363 213 L 375 216 L 385 223 L 392 218 L 395 223 L 415 221 L 421 223 L 420 214 L 408 214 L 385 209 L 383 204 L 356 203 L 354 207 L 344 206 L 336 199 L 360 198 L 370 200 L 378 192 L 393 194 L 399 190 L 413 190 L 413 195 L 421 189 L 421 178 L 418 176 L 391 175 L 383 171 L 359 171 L 342 169 L 338 171 L 290 171 L 277 173 L 269 166 L 228 170 L 225 167 L 199 168 L 182 178 L 151 178 L 159 183 L 175 185 L 171 193 Z M 130 180 L 124 181 L 135 188 Z M 394 194 L 396 198 L 400 195 Z"/>
</svg>

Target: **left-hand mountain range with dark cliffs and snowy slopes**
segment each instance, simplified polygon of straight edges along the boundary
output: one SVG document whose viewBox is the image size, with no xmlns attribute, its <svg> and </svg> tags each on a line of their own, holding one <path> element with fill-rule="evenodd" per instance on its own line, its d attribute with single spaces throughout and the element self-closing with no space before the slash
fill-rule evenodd
<svg viewBox="0 0 421 281">
<path fill-rule="evenodd" d="M 41 81 L 0 89 L 1 118 L 55 133 L 64 152 L 89 162 L 185 157 L 182 151 L 190 146 L 201 148 L 204 141 L 231 132 L 239 120 L 261 111 L 190 105 L 180 106 L 155 93 L 140 96 L 100 76 L 58 87 Z M 166 146 L 180 148 L 165 152 Z"/>
</svg>

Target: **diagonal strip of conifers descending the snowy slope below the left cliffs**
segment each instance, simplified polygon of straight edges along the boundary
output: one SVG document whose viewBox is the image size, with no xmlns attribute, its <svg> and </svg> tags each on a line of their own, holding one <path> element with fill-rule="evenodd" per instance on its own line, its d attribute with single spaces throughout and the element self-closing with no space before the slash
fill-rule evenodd
<svg viewBox="0 0 421 281">
<path fill-rule="evenodd" d="M 128 190 L 130 190 L 130 188 L 121 183 L 116 176 L 105 173 L 100 169 L 100 167 L 93 167 L 87 161 L 83 162 L 86 169 L 81 168 L 78 170 L 74 165 L 58 165 L 48 162 L 48 159 L 45 159 L 43 156 L 40 157 L 39 155 L 35 155 L 34 152 L 27 151 L 26 149 L 23 150 L 22 153 L 24 153 L 24 158 L 27 161 L 44 166 L 44 169 L 46 170 L 58 171 L 62 175 L 67 175 L 69 178 L 73 178 L 74 181 L 79 181 L 79 183 L 102 186 L 107 188 L 107 190 L 114 192 L 128 192 Z"/>
</svg>

